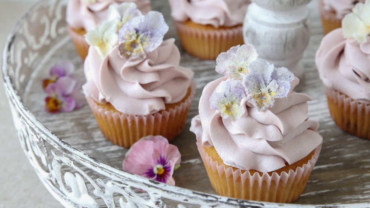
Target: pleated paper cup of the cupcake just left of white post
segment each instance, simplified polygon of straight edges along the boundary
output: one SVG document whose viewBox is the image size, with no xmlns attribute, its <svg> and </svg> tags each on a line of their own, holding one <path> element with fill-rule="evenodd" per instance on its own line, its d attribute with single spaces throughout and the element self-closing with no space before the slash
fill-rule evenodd
<svg viewBox="0 0 370 208">
<path fill-rule="evenodd" d="M 242 26 L 205 30 L 177 21 L 174 24 L 184 50 L 198 58 L 216 60 L 220 53 L 244 44 Z"/>
</svg>

